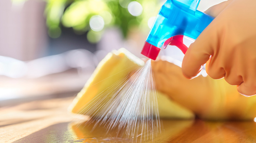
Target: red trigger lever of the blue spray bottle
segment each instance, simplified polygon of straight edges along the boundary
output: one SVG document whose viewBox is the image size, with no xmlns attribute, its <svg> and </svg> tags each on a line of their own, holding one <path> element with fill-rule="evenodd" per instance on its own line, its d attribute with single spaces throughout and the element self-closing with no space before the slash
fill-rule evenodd
<svg viewBox="0 0 256 143">
<path fill-rule="evenodd" d="M 176 35 L 166 40 L 163 44 L 163 49 L 165 49 L 168 45 L 177 46 L 179 49 L 181 49 L 183 54 L 185 54 L 188 49 L 188 47 L 183 44 L 183 35 Z"/>
</svg>

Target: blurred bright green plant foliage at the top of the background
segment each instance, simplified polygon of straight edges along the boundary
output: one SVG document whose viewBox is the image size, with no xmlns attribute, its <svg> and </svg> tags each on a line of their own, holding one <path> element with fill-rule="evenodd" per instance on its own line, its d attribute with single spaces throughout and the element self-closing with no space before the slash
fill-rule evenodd
<svg viewBox="0 0 256 143">
<path fill-rule="evenodd" d="M 61 35 L 60 24 L 72 27 L 77 34 L 87 32 L 96 43 L 107 27 L 117 26 L 126 38 L 129 29 L 148 30 L 148 21 L 160 9 L 159 0 L 46 0 L 48 34 Z M 151 18 L 152 19 L 152 18 Z M 151 20 L 152 21 L 152 20 Z"/>
</svg>

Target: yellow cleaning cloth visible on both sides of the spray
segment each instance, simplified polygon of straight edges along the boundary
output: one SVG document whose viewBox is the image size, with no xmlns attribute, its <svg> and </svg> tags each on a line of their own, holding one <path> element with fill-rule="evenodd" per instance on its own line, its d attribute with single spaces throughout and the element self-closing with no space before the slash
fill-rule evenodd
<svg viewBox="0 0 256 143">
<path fill-rule="evenodd" d="M 110 86 L 118 87 L 120 79 L 127 78 L 128 74 L 145 63 L 124 48 L 114 50 L 105 56 L 98 64 L 83 89 L 77 94 L 69 111 L 76 114 L 84 114 L 88 109 L 86 104 L 94 102 L 97 95 Z M 174 103 L 166 95 L 159 92 L 158 98 L 160 118 L 191 119 L 194 114 Z"/>
</svg>

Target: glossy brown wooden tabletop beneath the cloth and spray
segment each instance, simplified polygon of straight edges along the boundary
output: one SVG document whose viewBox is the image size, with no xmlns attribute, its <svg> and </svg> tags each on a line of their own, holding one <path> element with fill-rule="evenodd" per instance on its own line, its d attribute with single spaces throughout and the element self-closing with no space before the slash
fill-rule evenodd
<svg viewBox="0 0 256 143">
<path fill-rule="evenodd" d="M 104 128 L 91 132 L 82 121 L 85 116 L 67 112 L 75 96 L 20 103 L 0 108 L 0 142 L 136 142 L 105 134 Z M 83 119 L 81 119 L 83 118 Z M 213 122 L 196 120 L 162 120 L 164 131 L 154 141 L 193 143 L 253 143 L 256 142 L 256 123 L 245 121 Z"/>
</svg>

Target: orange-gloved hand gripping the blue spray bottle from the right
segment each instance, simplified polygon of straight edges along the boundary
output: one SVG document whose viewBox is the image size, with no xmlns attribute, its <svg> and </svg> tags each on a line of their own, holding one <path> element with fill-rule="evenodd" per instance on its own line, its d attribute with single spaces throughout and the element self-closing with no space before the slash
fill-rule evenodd
<svg viewBox="0 0 256 143">
<path fill-rule="evenodd" d="M 188 48 L 182 72 L 223 78 L 245 95 L 256 94 L 256 1 L 228 0 L 206 11 L 216 17 Z"/>
</svg>

